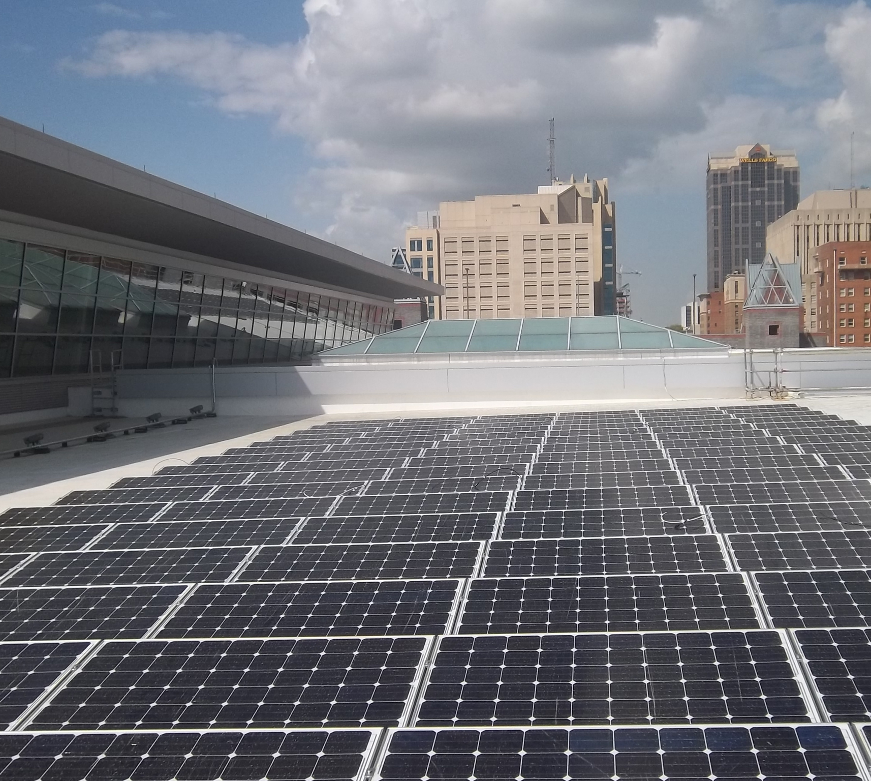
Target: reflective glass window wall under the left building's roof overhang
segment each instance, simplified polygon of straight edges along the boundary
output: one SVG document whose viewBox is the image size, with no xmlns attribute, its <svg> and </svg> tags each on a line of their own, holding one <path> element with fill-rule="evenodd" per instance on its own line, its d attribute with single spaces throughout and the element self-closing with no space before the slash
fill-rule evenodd
<svg viewBox="0 0 871 781">
<path fill-rule="evenodd" d="M 0 377 L 297 363 L 393 309 L 0 238 Z M 118 353 L 120 351 L 120 353 Z"/>
</svg>

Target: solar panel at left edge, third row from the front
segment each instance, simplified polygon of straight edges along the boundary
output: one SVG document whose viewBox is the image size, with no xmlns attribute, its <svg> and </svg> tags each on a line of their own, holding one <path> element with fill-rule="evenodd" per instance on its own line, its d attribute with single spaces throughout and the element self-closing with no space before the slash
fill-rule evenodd
<svg viewBox="0 0 871 781">
<path fill-rule="evenodd" d="M 138 638 L 185 588 L 0 588 L 0 640 Z"/>
</svg>

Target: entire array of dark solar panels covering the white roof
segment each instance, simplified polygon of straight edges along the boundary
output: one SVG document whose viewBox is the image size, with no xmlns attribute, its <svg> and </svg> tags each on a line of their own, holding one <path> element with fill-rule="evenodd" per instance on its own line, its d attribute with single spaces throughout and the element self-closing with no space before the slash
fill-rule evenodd
<svg viewBox="0 0 871 781">
<path fill-rule="evenodd" d="M 795 404 L 401 418 L 7 511 L 0 777 L 871 781 L 869 474 Z"/>
</svg>

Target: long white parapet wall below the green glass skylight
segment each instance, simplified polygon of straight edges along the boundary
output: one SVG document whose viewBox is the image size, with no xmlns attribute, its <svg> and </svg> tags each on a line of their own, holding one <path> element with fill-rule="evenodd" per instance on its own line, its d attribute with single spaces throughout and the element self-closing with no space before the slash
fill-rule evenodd
<svg viewBox="0 0 871 781">
<path fill-rule="evenodd" d="M 366 363 L 220 367 L 215 396 L 217 410 L 225 415 L 741 398 L 745 374 L 743 354 L 727 350 L 386 357 Z M 118 391 L 121 414 L 180 414 L 194 404 L 211 405 L 212 376 L 208 369 L 124 371 Z"/>
</svg>

